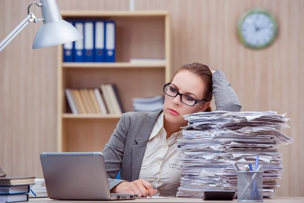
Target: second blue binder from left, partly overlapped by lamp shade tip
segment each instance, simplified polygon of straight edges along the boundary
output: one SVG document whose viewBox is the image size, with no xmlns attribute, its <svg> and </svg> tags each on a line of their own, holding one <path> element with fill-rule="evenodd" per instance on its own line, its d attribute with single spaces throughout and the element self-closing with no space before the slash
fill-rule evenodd
<svg viewBox="0 0 304 203">
<path fill-rule="evenodd" d="M 74 27 L 78 29 L 81 35 L 84 36 L 85 38 L 84 22 L 83 21 L 74 22 Z M 73 54 L 74 54 L 75 62 L 84 62 L 84 56 L 85 56 L 84 39 L 77 40 L 74 42 L 73 52 L 74 52 Z"/>
</svg>

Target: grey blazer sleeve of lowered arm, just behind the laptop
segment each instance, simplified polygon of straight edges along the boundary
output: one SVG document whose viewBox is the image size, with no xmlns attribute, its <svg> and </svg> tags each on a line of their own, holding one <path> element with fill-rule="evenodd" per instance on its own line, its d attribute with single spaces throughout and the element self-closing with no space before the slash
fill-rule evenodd
<svg viewBox="0 0 304 203">
<path fill-rule="evenodd" d="M 126 115 L 123 114 L 116 126 L 116 129 L 113 131 L 108 143 L 102 151 L 110 190 L 125 181 L 115 179 L 121 169 L 128 134 L 125 122 Z"/>
</svg>

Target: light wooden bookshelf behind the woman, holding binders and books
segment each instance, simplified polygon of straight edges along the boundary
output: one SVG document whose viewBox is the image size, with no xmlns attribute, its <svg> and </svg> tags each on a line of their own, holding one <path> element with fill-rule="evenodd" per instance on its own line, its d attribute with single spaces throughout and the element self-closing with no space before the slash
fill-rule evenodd
<svg viewBox="0 0 304 203">
<path fill-rule="evenodd" d="M 115 84 L 124 112 L 132 98 L 163 94 L 170 73 L 170 19 L 167 11 L 62 11 L 63 19 L 116 22 L 116 62 L 63 62 L 58 46 L 58 151 L 102 151 L 121 114 L 72 114 L 65 89 Z M 165 58 L 131 63 L 132 58 Z"/>
</svg>

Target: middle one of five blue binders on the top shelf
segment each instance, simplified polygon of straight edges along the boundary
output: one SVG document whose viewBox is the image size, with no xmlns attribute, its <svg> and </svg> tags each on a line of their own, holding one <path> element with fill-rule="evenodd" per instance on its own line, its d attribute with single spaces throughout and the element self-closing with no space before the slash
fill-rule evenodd
<svg viewBox="0 0 304 203">
<path fill-rule="evenodd" d="M 94 22 L 84 22 L 84 47 L 85 47 L 85 62 L 94 62 Z"/>
</svg>

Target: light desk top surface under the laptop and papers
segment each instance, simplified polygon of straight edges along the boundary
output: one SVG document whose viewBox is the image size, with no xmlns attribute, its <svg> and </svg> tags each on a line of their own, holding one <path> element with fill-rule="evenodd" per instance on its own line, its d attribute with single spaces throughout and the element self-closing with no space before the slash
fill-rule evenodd
<svg viewBox="0 0 304 203">
<path fill-rule="evenodd" d="M 238 202 L 237 199 L 233 201 L 204 201 L 203 199 L 198 198 L 181 198 L 181 197 L 171 197 L 165 199 L 134 199 L 134 200 L 117 200 L 117 201 L 66 201 L 66 200 L 53 200 L 50 198 L 29 198 L 30 203 L 83 203 L 83 202 L 91 202 L 91 203 L 124 203 L 124 202 L 134 202 L 134 203 L 147 203 L 147 202 L 157 202 L 157 203 L 168 203 L 168 202 L 180 202 L 180 203 L 229 203 L 229 202 Z M 265 203 L 303 203 L 304 197 L 276 197 L 273 199 L 264 199 Z"/>
</svg>

